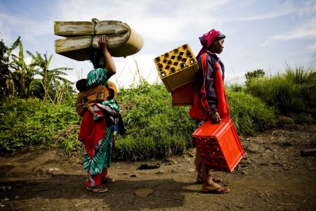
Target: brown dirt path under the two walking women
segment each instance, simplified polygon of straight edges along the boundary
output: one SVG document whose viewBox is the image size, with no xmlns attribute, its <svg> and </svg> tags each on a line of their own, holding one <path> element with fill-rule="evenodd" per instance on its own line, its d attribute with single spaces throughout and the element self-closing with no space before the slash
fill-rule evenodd
<svg viewBox="0 0 316 211">
<path fill-rule="evenodd" d="M 237 170 L 215 172 L 232 189 L 205 194 L 195 183 L 195 149 L 149 162 L 112 162 L 106 193 L 88 193 L 81 157 L 42 151 L 0 158 L 0 210 L 316 210 L 316 124 L 240 137 Z M 156 170 L 141 164 L 160 163 Z"/>
</svg>

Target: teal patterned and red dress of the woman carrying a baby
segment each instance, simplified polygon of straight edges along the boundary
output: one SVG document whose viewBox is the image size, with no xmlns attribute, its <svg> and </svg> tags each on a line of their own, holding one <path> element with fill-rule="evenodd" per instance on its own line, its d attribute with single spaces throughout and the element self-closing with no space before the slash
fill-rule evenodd
<svg viewBox="0 0 316 211">
<path fill-rule="evenodd" d="M 98 84 L 107 86 L 106 73 L 107 70 L 103 68 L 91 70 L 86 79 L 87 87 L 95 87 Z M 102 114 L 102 106 L 110 106 L 119 111 L 119 105 L 114 99 L 96 103 L 93 108 L 96 113 Z M 106 125 L 105 122 L 105 118 L 93 122 L 93 117 L 88 112 L 81 120 L 79 141 L 84 143 L 84 170 L 87 171 L 88 187 L 99 186 L 101 180 L 107 176 L 108 167 L 111 166 L 114 125 Z"/>
</svg>

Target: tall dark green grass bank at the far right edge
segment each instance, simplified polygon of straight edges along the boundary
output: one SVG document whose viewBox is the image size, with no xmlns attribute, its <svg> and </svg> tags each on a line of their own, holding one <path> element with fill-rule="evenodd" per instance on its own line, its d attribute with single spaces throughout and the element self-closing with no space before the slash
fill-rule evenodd
<svg viewBox="0 0 316 211">
<path fill-rule="evenodd" d="M 288 69 L 284 75 L 251 79 L 246 92 L 261 98 L 283 115 L 316 114 L 316 72 Z"/>
</svg>

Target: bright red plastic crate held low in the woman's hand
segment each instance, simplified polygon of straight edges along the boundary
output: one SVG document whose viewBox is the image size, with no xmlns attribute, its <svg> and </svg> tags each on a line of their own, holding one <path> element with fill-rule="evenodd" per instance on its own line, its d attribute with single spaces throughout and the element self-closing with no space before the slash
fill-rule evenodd
<svg viewBox="0 0 316 211">
<path fill-rule="evenodd" d="M 202 161 L 211 170 L 232 172 L 244 155 L 232 120 L 222 120 L 220 124 L 206 121 L 192 138 Z"/>
</svg>

